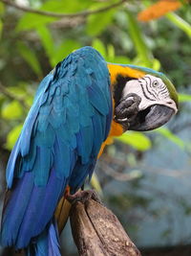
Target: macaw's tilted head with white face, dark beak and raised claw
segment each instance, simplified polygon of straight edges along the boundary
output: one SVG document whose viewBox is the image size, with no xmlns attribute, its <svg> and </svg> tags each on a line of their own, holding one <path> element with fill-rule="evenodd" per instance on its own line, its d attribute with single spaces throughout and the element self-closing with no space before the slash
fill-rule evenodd
<svg viewBox="0 0 191 256">
<path fill-rule="evenodd" d="M 178 111 L 177 91 L 166 76 L 149 68 L 108 63 L 115 122 L 123 130 L 151 130 Z"/>
</svg>

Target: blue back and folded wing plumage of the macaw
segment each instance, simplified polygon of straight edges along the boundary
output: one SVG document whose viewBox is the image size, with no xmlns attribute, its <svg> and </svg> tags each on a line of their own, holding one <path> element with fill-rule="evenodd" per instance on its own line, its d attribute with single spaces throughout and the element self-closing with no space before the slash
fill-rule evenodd
<svg viewBox="0 0 191 256">
<path fill-rule="evenodd" d="M 40 83 L 7 168 L 11 195 L 1 244 L 27 246 L 52 221 L 66 185 L 74 193 L 92 175 L 112 111 L 107 65 L 91 47 L 65 58 Z"/>
</svg>

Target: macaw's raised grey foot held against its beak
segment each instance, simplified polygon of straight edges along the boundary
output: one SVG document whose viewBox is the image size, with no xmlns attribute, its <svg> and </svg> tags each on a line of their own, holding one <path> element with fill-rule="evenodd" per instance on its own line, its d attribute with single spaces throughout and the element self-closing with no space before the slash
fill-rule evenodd
<svg viewBox="0 0 191 256">
<path fill-rule="evenodd" d="M 137 94 L 127 94 L 121 99 L 115 109 L 115 121 L 126 129 L 129 128 L 138 115 L 138 105 L 140 102 L 141 98 Z"/>
</svg>

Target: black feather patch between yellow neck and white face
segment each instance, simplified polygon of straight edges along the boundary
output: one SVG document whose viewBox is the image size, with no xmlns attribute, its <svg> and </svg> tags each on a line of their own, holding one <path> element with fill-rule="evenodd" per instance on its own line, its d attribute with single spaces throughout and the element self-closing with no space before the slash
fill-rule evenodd
<svg viewBox="0 0 191 256">
<path fill-rule="evenodd" d="M 117 82 L 114 85 L 114 100 L 116 107 L 122 98 L 122 91 L 125 87 L 125 84 L 127 83 L 127 81 L 131 80 L 135 80 L 135 78 L 122 77 L 121 75 L 117 76 Z"/>
</svg>

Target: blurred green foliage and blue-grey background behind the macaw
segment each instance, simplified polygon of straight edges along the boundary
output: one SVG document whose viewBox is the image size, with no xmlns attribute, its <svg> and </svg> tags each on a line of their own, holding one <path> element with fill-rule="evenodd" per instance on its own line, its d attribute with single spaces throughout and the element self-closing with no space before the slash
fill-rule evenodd
<svg viewBox="0 0 191 256">
<path fill-rule="evenodd" d="M 180 111 L 163 128 L 116 139 L 87 187 L 96 188 L 142 255 L 191 255 L 190 23 L 183 0 L 0 0 L 1 205 L 7 160 L 39 81 L 92 45 L 107 61 L 165 73 L 180 93 Z M 62 255 L 77 255 L 69 224 L 61 241 Z"/>
</svg>

